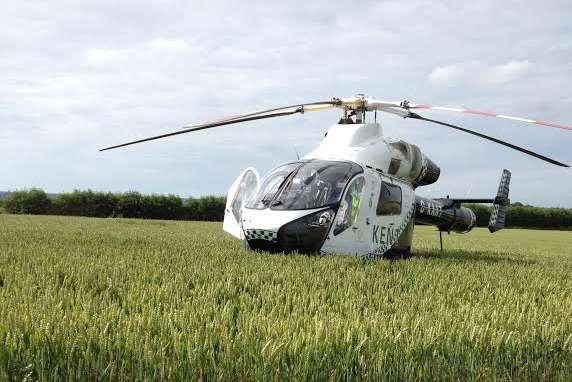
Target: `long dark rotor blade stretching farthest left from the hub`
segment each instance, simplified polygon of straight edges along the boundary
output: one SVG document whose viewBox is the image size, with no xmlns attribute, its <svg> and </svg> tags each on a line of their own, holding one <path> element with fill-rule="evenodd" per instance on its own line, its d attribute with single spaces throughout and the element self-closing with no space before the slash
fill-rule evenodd
<svg viewBox="0 0 572 382">
<path fill-rule="evenodd" d="M 130 145 L 134 145 L 137 143 L 153 141 L 156 139 L 171 137 L 173 135 L 190 133 L 193 131 L 206 130 L 206 129 L 210 129 L 213 127 L 230 125 L 233 123 L 255 121 L 258 119 L 266 119 L 266 118 L 274 118 L 274 117 L 283 117 L 286 115 L 292 115 L 292 114 L 296 114 L 296 113 L 303 114 L 305 112 L 310 112 L 310 111 L 326 110 L 326 109 L 336 107 L 338 104 L 339 104 L 339 100 L 334 99 L 332 101 L 313 102 L 313 103 L 307 103 L 307 104 L 292 105 L 292 106 L 286 106 L 286 107 L 279 107 L 279 108 L 275 108 L 275 109 L 257 111 L 254 113 L 241 114 L 241 115 L 236 115 L 233 117 L 227 117 L 227 118 L 223 118 L 223 119 L 219 119 L 219 120 L 215 120 L 215 121 L 210 121 L 210 122 L 206 122 L 206 123 L 201 123 L 201 124 L 197 124 L 197 125 L 186 125 L 183 127 L 182 130 L 178 130 L 178 131 L 175 131 L 172 133 L 156 135 L 153 137 L 138 139 L 136 141 L 122 143 L 122 144 L 115 145 L 115 146 L 109 146 L 109 147 L 105 147 L 103 149 L 100 149 L 99 151 L 117 149 L 120 147 L 130 146 Z"/>
</svg>

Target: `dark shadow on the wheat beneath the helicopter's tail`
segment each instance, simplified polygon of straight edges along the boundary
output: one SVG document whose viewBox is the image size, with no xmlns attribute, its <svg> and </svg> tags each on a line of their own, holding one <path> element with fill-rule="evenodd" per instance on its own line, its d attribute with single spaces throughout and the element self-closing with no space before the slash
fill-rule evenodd
<svg viewBox="0 0 572 382">
<path fill-rule="evenodd" d="M 468 262 L 507 265 L 533 265 L 536 261 L 519 259 L 513 255 L 494 251 L 469 251 L 469 250 L 421 250 L 413 253 L 413 257 L 447 262 Z"/>
</svg>

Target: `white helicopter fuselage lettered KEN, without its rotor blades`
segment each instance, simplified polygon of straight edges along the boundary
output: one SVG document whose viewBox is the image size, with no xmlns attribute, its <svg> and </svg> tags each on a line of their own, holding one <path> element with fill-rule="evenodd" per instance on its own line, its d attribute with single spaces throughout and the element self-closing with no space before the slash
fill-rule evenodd
<svg viewBox="0 0 572 382">
<path fill-rule="evenodd" d="M 447 210 L 437 202 L 424 208 L 428 202 L 415 196 L 439 172 L 417 146 L 384 138 L 378 123 L 334 125 L 315 150 L 262 182 L 245 170 L 229 190 L 224 229 L 271 252 L 409 253 L 416 212 L 434 220 Z M 468 231 L 474 214 L 465 215 Z M 438 221 L 449 222 L 446 215 Z"/>
</svg>

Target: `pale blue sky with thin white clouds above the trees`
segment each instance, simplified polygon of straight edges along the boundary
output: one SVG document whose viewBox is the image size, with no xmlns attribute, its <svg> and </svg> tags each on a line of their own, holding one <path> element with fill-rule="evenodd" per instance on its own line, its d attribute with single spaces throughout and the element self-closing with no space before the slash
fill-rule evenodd
<svg viewBox="0 0 572 382">
<path fill-rule="evenodd" d="M 365 93 L 572 125 L 572 2 L 11 1 L 0 13 L 0 190 L 223 195 L 316 147 L 337 111 L 120 150 L 188 123 Z M 572 163 L 572 131 L 420 113 Z M 572 207 L 572 170 L 395 116 L 441 167 L 429 197 Z"/>
</svg>

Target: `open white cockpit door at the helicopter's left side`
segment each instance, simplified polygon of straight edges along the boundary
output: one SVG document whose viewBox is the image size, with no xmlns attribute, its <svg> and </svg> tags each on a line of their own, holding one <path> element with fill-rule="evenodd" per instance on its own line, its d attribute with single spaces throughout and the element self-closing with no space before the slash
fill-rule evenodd
<svg viewBox="0 0 572 382">
<path fill-rule="evenodd" d="M 242 209 L 256 194 L 259 184 L 258 172 L 249 167 L 236 178 L 228 190 L 222 229 L 238 239 L 242 239 L 244 236 L 241 222 Z"/>
</svg>

